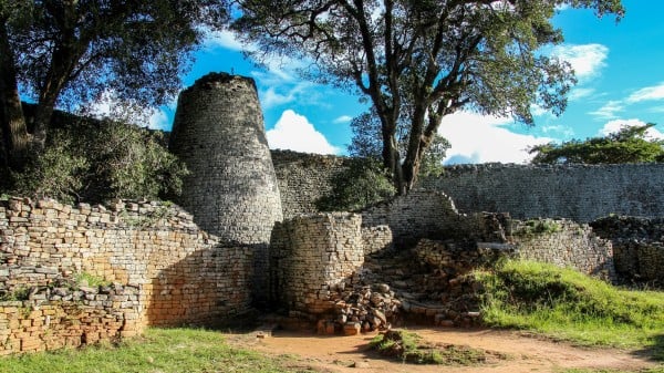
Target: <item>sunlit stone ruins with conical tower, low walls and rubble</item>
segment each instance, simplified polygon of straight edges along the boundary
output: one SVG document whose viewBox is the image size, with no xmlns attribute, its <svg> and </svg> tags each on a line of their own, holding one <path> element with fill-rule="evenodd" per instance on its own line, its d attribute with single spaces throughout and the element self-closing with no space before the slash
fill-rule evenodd
<svg viewBox="0 0 664 373">
<path fill-rule="evenodd" d="M 321 333 L 470 325 L 481 314 L 469 273 L 501 257 L 608 280 L 630 267 L 587 224 L 459 214 L 437 190 L 315 213 L 343 159 L 271 153 L 251 79 L 210 74 L 184 91 L 170 148 L 191 172 L 178 205 L 0 201 L 0 355 L 257 309 Z"/>
</svg>

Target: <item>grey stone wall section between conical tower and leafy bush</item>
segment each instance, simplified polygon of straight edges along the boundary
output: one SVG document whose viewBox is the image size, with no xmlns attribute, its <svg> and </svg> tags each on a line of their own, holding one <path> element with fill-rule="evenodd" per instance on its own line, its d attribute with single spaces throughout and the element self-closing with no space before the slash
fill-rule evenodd
<svg viewBox="0 0 664 373">
<path fill-rule="evenodd" d="M 335 175 L 347 167 L 344 157 L 272 151 L 283 218 L 318 213 L 317 201 L 332 190 Z"/>
</svg>

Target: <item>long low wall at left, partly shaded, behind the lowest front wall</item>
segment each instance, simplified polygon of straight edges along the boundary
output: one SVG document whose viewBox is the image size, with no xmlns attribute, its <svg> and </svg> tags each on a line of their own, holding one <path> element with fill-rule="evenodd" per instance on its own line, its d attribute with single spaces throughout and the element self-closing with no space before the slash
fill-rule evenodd
<svg viewBox="0 0 664 373">
<path fill-rule="evenodd" d="M 0 201 L 0 297 L 76 273 L 129 286 L 138 289 L 137 322 L 123 332 L 246 313 L 252 251 L 208 236 L 177 206 Z"/>
</svg>

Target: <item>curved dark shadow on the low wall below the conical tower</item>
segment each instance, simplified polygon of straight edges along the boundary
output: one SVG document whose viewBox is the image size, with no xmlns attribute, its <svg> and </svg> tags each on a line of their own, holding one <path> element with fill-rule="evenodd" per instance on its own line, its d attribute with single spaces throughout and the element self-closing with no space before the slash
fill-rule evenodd
<svg viewBox="0 0 664 373">
<path fill-rule="evenodd" d="M 251 310 L 251 247 L 193 252 L 144 286 L 147 325 L 214 327 Z"/>
</svg>

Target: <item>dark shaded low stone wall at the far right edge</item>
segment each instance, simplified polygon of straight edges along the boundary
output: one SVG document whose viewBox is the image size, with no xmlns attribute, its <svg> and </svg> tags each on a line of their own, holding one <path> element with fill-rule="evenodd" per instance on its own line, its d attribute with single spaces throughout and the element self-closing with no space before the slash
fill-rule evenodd
<svg viewBox="0 0 664 373">
<path fill-rule="evenodd" d="M 590 225 L 613 242 L 619 276 L 629 281 L 664 286 L 664 218 L 609 216 Z"/>
</svg>

